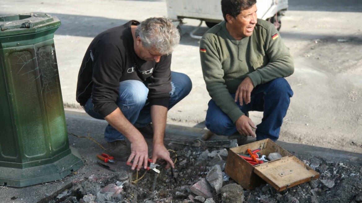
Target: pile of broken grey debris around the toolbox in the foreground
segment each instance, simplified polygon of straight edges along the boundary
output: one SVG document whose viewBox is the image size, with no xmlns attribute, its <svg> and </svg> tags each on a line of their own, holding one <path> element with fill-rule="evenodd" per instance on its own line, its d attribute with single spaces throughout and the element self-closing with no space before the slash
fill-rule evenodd
<svg viewBox="0 0 362 203">
<path fill-rule="evenodd" d="M 174 155 L 177 159 L 174 159 L 173 171 L 147 172 L 136 183 L 120 181 L 112 173 L 97 174 L 74 182 L 70 190 L 58 195 L 52 203 L 362 202 L 361 163 L 334 162 L 291 152 L 319 172 L 320 178 L 282 192 L 266 183 L 244 190 L 223 172 L 228 155 L 226 149 L 169 145 L 171 147 L 179 148 Z"/>
</svg>

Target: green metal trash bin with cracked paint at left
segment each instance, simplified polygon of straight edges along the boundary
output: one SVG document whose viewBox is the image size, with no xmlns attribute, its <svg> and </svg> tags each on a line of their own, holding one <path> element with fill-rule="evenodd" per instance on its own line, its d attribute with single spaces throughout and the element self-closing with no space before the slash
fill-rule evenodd
<svg viewBox="0 0 362 203">
<path fill-rule="evenodd" d="M 59 180 L 83 165 L 68 141 L 53 40 L 59 25 L 48 14 L 0 17 L 2 185 Z"/>
</svg>

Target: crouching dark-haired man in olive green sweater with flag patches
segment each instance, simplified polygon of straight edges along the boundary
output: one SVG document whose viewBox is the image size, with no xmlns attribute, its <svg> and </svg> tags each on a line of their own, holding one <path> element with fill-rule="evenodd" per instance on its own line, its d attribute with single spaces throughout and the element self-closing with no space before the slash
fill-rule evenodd
<svg viewBox="0 0 362 203">
<path fill-rule="evenodd" d="M 203 77 L 211 96 L 206 127 L 217 135 L 279 138 L 293 91 L 284 79 L 294 62 L 278 31 L 257 19 L 256 0 L 222 0 L 223 22 L 200 41 Z M 249 111 L 263 111 L 255 126 Z M 256 129 L 255 133 L 252 129 Z"/>
</svg>

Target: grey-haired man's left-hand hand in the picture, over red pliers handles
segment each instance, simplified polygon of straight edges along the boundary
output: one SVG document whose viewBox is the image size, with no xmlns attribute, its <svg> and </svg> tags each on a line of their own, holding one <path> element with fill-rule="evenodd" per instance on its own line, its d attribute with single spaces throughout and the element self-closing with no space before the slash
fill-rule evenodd
<svg viewBox="0 0 362 203">
<path fill-rule="evenodd" d="M 147 143 L 144 139 L 138 140 L 136 142 L 131 143 L 131 155 L 128 158 L 127 162 L 131 163 L 133 159 L 132 164 L 132 170 L 134 170 L 137 166 L 137 170 L 139 171 L 143 165 L 143 168 L 147 168 L 148 164 L 148 147 Z"/>
</svg>

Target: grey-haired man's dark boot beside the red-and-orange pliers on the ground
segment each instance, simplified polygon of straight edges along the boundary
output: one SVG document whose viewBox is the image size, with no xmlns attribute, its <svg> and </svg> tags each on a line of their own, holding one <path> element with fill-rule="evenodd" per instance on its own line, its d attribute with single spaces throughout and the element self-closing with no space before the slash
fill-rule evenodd
<svg viewBox="0 0 362 203">
<path fill-rule="evenodd" d="M 125 140 L 116 140 L 108 142 L 110 156 L 113 156 L 117 161 L 127 161 L 131 154 L 131 147 Z"/>
</svg>

